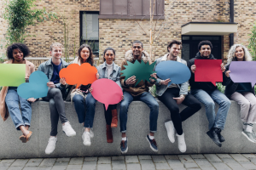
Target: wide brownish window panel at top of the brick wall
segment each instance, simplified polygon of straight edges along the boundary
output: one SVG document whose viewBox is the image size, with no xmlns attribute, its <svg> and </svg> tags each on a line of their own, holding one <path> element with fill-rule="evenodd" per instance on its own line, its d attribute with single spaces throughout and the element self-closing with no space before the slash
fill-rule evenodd
<svg viewBox="0 0 256 170">
<path fill-rule="evenodd" d="M 151 3 L 155 18 L 164 19 L 165 0 L 155 0 L 155 4 L 152 0 Z M 99 18 L 146 19 L 149 17 L 149 8 L 149 0 L 101 0 Z"/>
</svg>

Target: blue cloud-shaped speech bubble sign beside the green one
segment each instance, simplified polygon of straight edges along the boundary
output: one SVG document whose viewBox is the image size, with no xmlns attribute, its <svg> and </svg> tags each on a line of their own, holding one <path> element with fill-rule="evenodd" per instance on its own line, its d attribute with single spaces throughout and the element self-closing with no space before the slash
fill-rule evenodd
<svg viewBox="0 0 256 170">
<path fill-rule="evenodd" d="M 29 77 L 29 82 L 20 84 L 17 93 L 23 99 L 44 98 L 47 96 L 49 82 L 48 77 L 42 71 L 34 71 Z"/>
</svg>

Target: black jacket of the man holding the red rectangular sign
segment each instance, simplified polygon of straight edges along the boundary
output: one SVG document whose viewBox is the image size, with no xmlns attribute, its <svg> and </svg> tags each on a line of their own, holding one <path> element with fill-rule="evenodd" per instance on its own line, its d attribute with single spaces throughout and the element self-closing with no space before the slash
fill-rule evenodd
<svg viewBox="0 0 256 170">
<path fill-rule="evenodd" d="M 187 65 L 189 67 L 189 71 L 191 71 L 191 65 L 195 64 L 195 59 L 206 59 L 206 58 L 202 58 L 201 54 L 198 52 L 195 55 L 195 58 L 189 59 L 189 61 L 187 63 Z M 207 59 L 215 59 L 215 58 L 211 54 L 210 57 Z M 191 71 L 191 77 L 189 79 L 189 85 L 190 85 L 191 89 L 202 89 L 205 91 L 213 91 L 213 90 L 217 89 L 217 87 L 214 86 L 212 84 L 212 82 L 195 82 L 195 74 L 192 71 Z"/>
</svg>

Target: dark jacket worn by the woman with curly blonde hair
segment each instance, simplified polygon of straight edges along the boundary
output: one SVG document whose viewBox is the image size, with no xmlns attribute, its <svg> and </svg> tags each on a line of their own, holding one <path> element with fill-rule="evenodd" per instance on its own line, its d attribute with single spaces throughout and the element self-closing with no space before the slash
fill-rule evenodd
<svg viewBox="0 0 256 170">
<path fill-rule="evenodd" d="M 226 71 L 230 70 L 230 65 L 226 65 Z M 239 82 L 233 82 L 230 77 L 226 77 L 224 75 L 222 85 L 226 86 L 225 95 L 230 99 L 231 95 L 236 92 L 236 88 L 238 87 Z M 254 88 L 252 88 L 251 92 L 255 95 Z"/>
</svg>

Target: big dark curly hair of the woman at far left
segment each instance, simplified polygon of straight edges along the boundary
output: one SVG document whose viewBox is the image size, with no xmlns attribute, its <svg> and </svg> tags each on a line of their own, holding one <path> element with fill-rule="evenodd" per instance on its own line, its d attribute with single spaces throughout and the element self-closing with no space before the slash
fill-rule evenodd
<svg viewBox="0 0 256 170">
<path fill-rule="evenodd" d="M 13 43 L 6 50 L 6 55 L 8 59 L 14 59 L 14 56 L 13 56 L 14 49 L 20 49 L 20 51 L 23 53 L 23 59 L 30 54 L 30 50 L 25 44 Z"/>
</svg>

